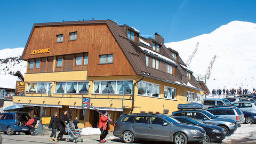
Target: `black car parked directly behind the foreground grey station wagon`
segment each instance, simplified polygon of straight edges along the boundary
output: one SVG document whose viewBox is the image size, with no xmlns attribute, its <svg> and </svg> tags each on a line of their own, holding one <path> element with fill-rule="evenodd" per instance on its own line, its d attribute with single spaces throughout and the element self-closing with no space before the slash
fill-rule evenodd
<svg viewBox="0 0 256 144">
<path fill-rule="evenodd" d="M 205 142 L 212 142 L 212 141 L 221 141 L 225 139 L 225 132 L 220 126 L 212 125 L 212 124 L 205 124 L 203 122 L 198 121 L 195 118 L 186 117 L 186 116 L 173 116 L 175 119 L 180 121 L 181 123 L 185 124 L 193 124 L 203 127 L 206 131 L 206 140 Z"/>
</svg>

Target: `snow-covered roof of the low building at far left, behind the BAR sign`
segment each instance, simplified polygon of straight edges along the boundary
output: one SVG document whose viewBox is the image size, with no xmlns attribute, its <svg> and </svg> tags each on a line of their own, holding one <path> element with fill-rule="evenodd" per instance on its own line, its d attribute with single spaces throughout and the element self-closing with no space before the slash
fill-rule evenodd
<svg viewBox="0 0 256 144">
<path fill-rule="evenodd" d="M 18 76 L 0 75 L 0 88 L 15 89 L 16 81 L 20 81 Z"/>
</svg>

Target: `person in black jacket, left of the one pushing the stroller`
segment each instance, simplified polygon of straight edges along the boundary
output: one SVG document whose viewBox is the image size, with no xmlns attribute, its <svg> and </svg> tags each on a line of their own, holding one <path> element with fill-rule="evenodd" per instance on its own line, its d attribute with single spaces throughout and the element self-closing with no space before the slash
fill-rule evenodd
<svg viewBox="0 0 256 144">
<path fill-rule="evenodd" d="M 53 141 L 52 137 L 54 138 L 54 142 L 58 142 L 57 138 L 56 138 L 56 131 L 57 129 L 59 129 L 59 118 L 58 118 L 58 113 L 55 111 L 53 113 L 53 116 L 51 117 L 51 121 L 49 124 L 49 129 L 52 129 L 52 133 L 50 136 L 49 141 Z"/>
</svg>

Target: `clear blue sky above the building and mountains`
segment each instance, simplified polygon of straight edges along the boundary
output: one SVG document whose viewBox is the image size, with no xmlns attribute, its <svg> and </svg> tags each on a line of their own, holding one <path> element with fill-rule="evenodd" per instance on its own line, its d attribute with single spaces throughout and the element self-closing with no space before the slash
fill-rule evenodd
<svg viewBox="0 0 256 144">
<path fill-rule="evenodd" d="M 34 23 L 92 18 L 118 21 L 137 28 L 141 35 L 157 32 L 165 43 L 177 42 L 234 20 L 256 23 L 255 5 L 249 0 L 0 1 L 0 50 L 25 47 Z"/>
</svg>

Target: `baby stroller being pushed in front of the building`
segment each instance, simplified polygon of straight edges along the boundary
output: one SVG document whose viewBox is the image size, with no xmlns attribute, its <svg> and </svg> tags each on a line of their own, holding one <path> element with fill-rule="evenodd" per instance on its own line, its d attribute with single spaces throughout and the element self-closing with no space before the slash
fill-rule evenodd
<svg viewBox="0 0 256 144">
<path fill-rule="evenodd" d="M 72 121 L 69 121 L 68 124 L 66 124 L 66 133 L 67 133 L 67 139 L 66 142 L 73 141 L 73 142 L 83 142 L 83 139 L 80 135 L 81 132 L 79 132 L 79 129 L 75 129 L 75 125 Z"/>
</svg>

